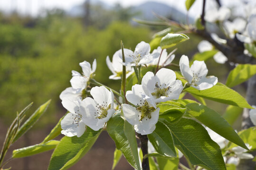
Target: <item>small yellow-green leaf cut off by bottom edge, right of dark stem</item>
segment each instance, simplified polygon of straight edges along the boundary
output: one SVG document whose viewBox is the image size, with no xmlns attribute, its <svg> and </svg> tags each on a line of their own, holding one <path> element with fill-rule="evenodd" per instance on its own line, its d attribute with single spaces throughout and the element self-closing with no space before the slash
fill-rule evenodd
<svg viewBox="0 0 256 170">
<path fill-rule="evenodd" d="M 160 170 L 178 170 L 179 158 L 166 159 L 157 157 L 156 160 Z"/>
</svg>

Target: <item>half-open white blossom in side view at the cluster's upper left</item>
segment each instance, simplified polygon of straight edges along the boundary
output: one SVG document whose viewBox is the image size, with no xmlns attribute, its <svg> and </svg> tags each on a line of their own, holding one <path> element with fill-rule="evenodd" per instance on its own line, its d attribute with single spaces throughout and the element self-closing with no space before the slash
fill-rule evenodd
<svg viewBox="0 0 256 170">
<path fill-rule="evenodd" d="M 83 75 L 78 73 L 77 71 L 72 71 L 72 78 L 70 80 L 71 86 L 81 92 L 87 86 L 87 82 L 89 81 L 92 76 L 94 76 L 94 72 L 96 70 L 96 59 L 94 59 L 93 67 L 91 68 L 91 64 L 87 61 L 79 63 L 83 70 Z"/>
</svg>

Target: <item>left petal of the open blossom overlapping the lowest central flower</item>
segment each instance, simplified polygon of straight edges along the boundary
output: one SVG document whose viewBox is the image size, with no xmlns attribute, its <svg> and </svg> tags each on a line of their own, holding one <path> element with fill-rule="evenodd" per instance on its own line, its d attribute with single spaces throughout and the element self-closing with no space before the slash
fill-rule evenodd
<svg viewBox="0 0 256 170">
<path fill-rule="evenodd" d="M 142 88 L 143 88 L 143 90 L 148 90 L 149 93 L 153 93 L 155 91 L 154 90 L 155 84 L 156 84 L 155 75 L 151 71 L 147 72 L 142 77 Z"/>
</svg>

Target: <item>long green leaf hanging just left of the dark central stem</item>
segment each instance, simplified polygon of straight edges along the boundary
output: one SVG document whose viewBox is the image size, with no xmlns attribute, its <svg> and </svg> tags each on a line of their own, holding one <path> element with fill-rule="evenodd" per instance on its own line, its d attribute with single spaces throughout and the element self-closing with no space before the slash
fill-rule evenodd
<svg viewBox="0 0 256 170">
<path fill-rule="evenodd" d="M 107 132 L 109 136 L 114 140 L 116 148 L 121 150 L 123 156 L 133 166 L 133 168 L 140 170 L 141 167 L 139 163 L 140 161 L 138 151 L 136 153 L 133 151 L 134 148 L 131 148 L 132 146 L 125 135 L 125 133 L 128 133 L 129 131 L 129 126 L 126 124 L 125 128 L 127 128 L 127 132 L 124 132 L 124 120 L 120 117 L 119 114 L 115 114 L 112 118 L 109 119 L 107 123 Z"/>
</svg>

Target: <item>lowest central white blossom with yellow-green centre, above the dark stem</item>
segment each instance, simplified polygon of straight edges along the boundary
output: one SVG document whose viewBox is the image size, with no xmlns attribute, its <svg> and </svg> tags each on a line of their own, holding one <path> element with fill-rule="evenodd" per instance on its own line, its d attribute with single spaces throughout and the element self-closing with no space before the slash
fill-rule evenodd
<svg viewBox="0 0 256 170">
<path fill-rule="evenodd" d="M 134 126 L 137 133 L 142 135 L 151 134 L 155 130 L 160 110 L 156 108 L 154 98 L 145 95 L 142 85 L 133 85 L 132 91 L 127 91 L 125 96 L 137 108 L 129 104 L 123 104 L 124 118 Z"/>
</svg>

